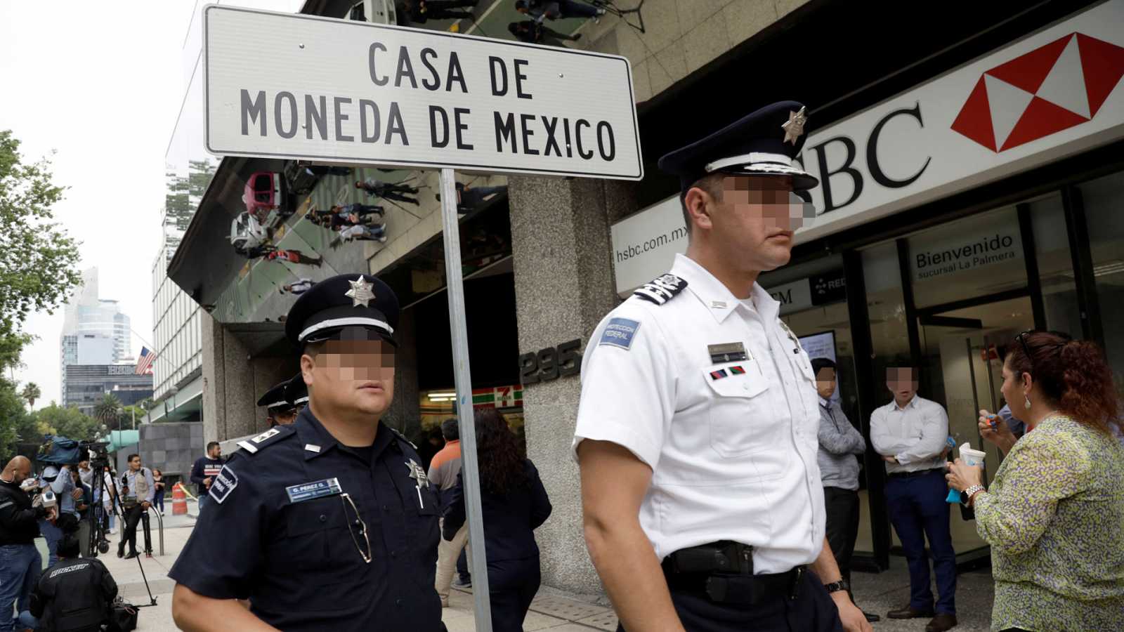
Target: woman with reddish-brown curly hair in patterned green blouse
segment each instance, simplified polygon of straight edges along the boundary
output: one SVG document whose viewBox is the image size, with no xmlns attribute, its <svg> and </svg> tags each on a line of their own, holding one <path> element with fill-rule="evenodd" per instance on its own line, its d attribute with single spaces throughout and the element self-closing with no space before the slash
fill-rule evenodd
<svg viewBox="0 0 1124 632">
<path fill-rule="evenodd" d="M 1124 630 L 1124 446 L 1104 352 L 1024 332 L 1007 347 L 1003 395 L 1026 434 L 991 488 L 959 459 L 948 475 L 991 545 L 991 630 Z"/>
</svg>

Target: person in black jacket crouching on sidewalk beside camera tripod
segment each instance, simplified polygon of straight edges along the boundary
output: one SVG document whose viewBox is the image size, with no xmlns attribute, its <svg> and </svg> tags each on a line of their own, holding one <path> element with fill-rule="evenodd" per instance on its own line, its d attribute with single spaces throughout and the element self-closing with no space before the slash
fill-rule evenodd
<svg viewBox="0 0 1124 632">
<path fill-rule="evenodd" d="M 39 576 L 19 623 L 36 632 L 100 632 L 102 625 L 115 630 L 117 583 L 101 560 L 79 558 L 78 521 L 63 515 L 58 523 L 58 561 Z"/>
</svg>

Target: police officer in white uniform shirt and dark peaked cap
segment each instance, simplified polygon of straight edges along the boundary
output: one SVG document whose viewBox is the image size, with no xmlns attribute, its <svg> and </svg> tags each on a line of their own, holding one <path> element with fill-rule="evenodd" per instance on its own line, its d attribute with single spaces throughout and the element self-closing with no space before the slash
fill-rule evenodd
<svg viewBox="0 0 1124 632">
<path fill-rule="evenodd" d="M 587 347 L 586 542 L 628 632 L 870 630 L 824 539 L 815 376 L 756 285 L 810 210 L 805 123 L 774 103 L 660 160 L 687 255 Z"/>
</svg>

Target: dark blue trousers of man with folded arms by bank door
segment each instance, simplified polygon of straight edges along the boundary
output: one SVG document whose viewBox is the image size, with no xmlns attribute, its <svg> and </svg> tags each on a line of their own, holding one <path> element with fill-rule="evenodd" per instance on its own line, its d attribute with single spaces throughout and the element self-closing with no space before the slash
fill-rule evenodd
<svg viewBox="0 0 1124 632">
<path fill-rule="evenodd" d="M 890 524 L 901 540 L 909 566 L 909 605 L 916 610 L 933 606 L 928 558 L 936 574 L 936 612 L 957 612 L 957 553 L 949 531 L 949 485 L 942 470 L 886 481 L 886 506 Z M 925 539 L 928 539 L 928 551 Z"/>
</svg>

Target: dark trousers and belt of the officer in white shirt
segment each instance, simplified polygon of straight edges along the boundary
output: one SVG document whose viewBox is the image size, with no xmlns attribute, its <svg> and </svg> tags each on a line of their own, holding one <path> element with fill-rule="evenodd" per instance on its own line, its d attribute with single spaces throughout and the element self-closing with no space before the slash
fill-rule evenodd
<svg viewBox="0 0 1124 632">
<path fill-rule="evenodd" d="M 716 604 L 701 593 L 672 590 L 671 603 L 687 632 L 843 632 L 839 608 L 814 572 L 804 574 L 795 599 Z M 617 632 L 624 626 L 617 625 Z"/>
</svg>

